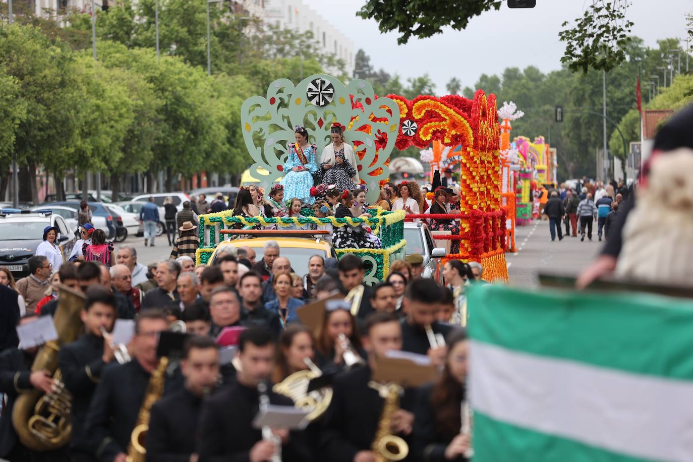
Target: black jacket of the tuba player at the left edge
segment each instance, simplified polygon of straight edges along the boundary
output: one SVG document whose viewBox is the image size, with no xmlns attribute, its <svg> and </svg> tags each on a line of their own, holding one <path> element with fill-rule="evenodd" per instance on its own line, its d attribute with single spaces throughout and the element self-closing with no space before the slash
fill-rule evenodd
<svg viewBox="0 0 693 462">
<path fill-rule="evenodd" d="M 0 418 L 0 457 L 7 456 L 19 441 L 12 425 L 12 409 L 19 393 L 34 389 L 29 381 L 33 362 L 33 355 L 18 348 L 0 353 L 0 394 L 7 395 L 7 405 Z"/>
</svg>

